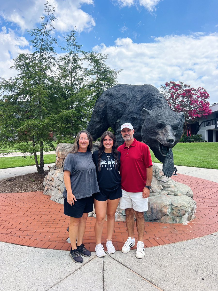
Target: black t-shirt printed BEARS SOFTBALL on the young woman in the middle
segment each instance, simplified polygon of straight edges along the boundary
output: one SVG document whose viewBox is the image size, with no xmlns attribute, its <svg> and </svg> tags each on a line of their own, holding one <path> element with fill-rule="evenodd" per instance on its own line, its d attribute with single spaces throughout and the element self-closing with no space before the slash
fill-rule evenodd
<svg viewBox="0 0 218 291">
<path fill-rule="evenodd" d="M 110 158 L 107 157 L 110 156 Z M 101 171 L 98 171 L 98 150 L 95 150 L 92 154 L 93 162 L 97 170 L 97 180 L 99 188 L 106 191 L 116 190 L 121 182 L 121 176 L 119 174 L 119 166 L 115 167 L 115 158 L 112 154 L 106 154 L 103 152 L 101 155 Z M 120 162 L 120 152 L 118 152 L 118 159 Z"/>
</svg>

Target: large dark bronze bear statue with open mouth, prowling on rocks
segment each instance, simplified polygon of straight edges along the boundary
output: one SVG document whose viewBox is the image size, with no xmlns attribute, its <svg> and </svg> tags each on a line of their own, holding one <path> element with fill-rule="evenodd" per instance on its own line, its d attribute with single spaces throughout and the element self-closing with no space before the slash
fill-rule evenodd
<svg viewBox="0 0 218 291">
<path fill-rule="evenodd" d="M 98 98 L 87 130 L 96 140 L 112 127 L 121 145 L 124 142 L 121 125 L 131 123 L 135 139 L 149 145 L 163 163 L 164 174 L 171 177 L 174 172 L 172 148 L 182 136 L 184 121 L 184 113 L 173 111 L 154 86 L 119 84 Z"/>
</svg>

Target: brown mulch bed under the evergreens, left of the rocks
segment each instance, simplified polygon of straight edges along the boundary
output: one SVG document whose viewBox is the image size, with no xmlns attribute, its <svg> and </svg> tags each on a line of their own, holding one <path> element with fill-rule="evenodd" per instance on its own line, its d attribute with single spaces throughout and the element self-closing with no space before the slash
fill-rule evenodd
<svg viewBox="0 0 218 291">
<path fill-rule="evenodd" d="M 0 193 L 43 191 L 43 181 L 48 172 L 44 171 L 44 174 L 29 173 L 1 180 Z"/>
</svg>

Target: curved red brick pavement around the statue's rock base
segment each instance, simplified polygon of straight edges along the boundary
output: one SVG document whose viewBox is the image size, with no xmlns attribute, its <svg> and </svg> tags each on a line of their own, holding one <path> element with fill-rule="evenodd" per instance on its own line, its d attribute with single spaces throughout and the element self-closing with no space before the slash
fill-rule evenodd
<svg viewBox="0 0 218 291">
<path fill-rule="evenodd" d="M 172 177 L 189 185 L 197 202 L 196 219 L 187 225 L 146 222 L 146 247 L 171 244 L 218 231 L 218 183 L 187 175 Z M 50 200 L 42 192 L 0 194 L 0 241 L 43 249 L 69 250 L 66 231 L 69 217 L 63 214 L 63 205 Z M 84 235 L 87 249 L 94 251 L 95 218 L 88 217 Z M 103 243 L 107 238 L 106 222 Z M 135 235 L 137 231 L 135 226 Z M 125 222 L 116 222 L 113 235 L 115 249 L 121 250 L 128 237 Z"/>
</svg>

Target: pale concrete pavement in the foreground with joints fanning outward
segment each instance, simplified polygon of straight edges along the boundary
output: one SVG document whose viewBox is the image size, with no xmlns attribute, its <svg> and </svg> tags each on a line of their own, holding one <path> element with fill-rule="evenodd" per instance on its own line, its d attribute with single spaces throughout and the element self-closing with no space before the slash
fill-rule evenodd
<svg viewBox="0 0 218 291">
<path fill-rule="evenodd" d="M 145 249 L 116 251 L 104 258 L 92 253 L 76 264 L 68 251 L 0 242 L 4 291 L 217 291 L 218 233 Z"/>
</svg>

